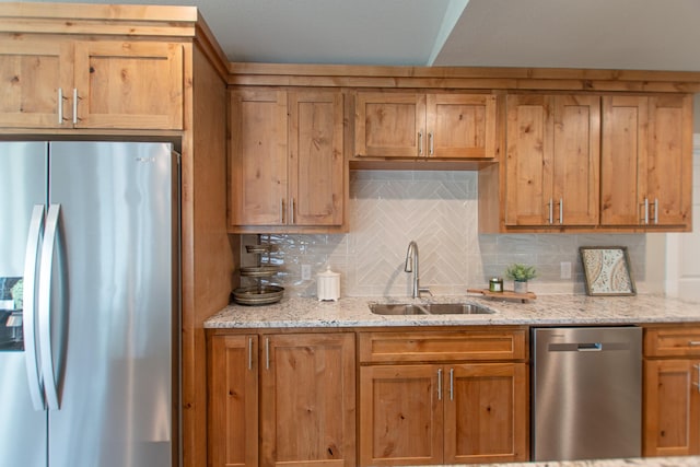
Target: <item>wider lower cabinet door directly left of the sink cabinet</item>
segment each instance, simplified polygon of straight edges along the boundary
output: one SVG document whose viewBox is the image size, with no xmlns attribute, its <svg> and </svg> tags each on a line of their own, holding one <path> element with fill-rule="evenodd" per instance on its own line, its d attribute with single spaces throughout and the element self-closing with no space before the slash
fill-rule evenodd
<svg viewBox="0 0 700 467">
<path fill-rule="evenodd" d="M 354 467 L 354 336 L 265 339 L 260 465 Z"/>
</svg>

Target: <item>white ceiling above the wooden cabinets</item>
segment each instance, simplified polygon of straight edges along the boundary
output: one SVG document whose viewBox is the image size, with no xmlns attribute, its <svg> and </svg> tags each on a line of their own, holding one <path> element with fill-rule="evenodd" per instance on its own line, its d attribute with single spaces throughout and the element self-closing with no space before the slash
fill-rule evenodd
<svg viewBox="0 0 700 467">
<path fill-rule="evenodd" d="M 700 0 L 78 2 L 196 5 L 231 61 L 700 71 Z"/>
</svg>

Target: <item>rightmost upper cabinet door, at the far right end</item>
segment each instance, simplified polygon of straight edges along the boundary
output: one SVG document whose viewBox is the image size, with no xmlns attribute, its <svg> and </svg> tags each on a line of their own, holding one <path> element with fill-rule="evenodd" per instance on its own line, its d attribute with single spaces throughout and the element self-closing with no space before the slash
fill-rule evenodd
<svg viewBox="0 0 700 467">
<path fill-rule="evenodd" d="M 692 100 L 649 100 L 649 151 L 645 197 L 650 225 L 690 229 L 692 203 Z"/>
</svg>

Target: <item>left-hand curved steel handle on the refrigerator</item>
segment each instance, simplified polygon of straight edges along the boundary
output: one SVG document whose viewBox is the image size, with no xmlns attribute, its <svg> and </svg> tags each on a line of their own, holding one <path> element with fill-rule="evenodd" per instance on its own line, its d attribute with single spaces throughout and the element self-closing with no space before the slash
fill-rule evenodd
<svg viewBox="0 0 700 467">
<path fill-rule="evenodd" d="M 39 243 L 44 236 L 44 205 L 35 205 L 26 238 L 26 254 L 24 256 L 24 312 L 23 335 L 26 376 L 30 384 L 30 395 L 34 410 L 45 410 L 44 383 L 39 372 L 39 360 L 36 354 L 36 264 L 39 254 Z"/>
</svg>

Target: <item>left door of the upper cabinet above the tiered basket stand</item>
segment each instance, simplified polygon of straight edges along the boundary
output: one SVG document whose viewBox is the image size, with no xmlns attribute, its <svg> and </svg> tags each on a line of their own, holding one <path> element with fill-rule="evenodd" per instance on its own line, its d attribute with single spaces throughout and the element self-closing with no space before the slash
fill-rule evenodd
<svg viewBox="0 0 700 467">
<path fill-rule="evenodd" d="M 232 225 L 287 223 L 287 93 L 231 94 L 230 209 Z"/>
</svg>

